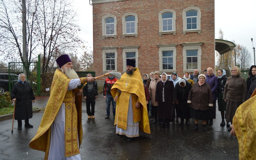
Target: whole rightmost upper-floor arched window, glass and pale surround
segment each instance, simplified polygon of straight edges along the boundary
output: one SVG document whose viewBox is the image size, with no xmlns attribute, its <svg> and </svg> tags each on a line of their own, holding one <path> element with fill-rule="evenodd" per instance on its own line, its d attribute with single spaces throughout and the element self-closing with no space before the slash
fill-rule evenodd
<svg viewBox="0 0 256 160">
<path fill-rule="evenodd" d="M 183 10 L 183 34 L 187 32 L 201 33 L 201 10 L 196 7 L 188 7 Z"/>
</svg>

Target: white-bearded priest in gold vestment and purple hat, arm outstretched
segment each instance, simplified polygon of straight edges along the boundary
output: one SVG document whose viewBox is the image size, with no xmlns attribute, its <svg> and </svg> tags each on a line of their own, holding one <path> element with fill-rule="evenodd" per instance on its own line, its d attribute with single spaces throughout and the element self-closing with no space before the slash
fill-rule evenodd
<svg viewBox="0 0 256 160">
<path fill-rule="evenodd" d="M 95 78 L 79 78 L 67 54 L 61 55 L 56 62 L 60 68 L 54 73 L 50 98 L 29 147 L 44 151 L 44 159 L 81 159 L 82 92 L 77 86 L 93 82 Z"/>
</svg>

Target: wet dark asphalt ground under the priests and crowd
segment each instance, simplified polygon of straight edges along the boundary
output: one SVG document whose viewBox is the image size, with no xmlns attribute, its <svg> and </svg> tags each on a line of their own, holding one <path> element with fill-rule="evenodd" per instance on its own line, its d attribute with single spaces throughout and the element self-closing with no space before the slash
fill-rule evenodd
<svg viewBox="0 0 256 160">
<path fill-rule="evenodd" d="M 45 107 L 49 97 L 36 97 L 33 107 Z M 170 128 L 161 128 L 159 124 L 152 124 L 149 119 L 151 134 L 140 131 L 140 137 L 127 141 L 127 138 L 116 136 L 116 127 L 112 115 L 106 116 L 106 101 L 99 95 L 95 105 L 95 119 L 87 119 L 85 101 L 82 105 L 83 141 L 80 148 L 82 159 L 216 159 L 235 160 L 238 158 L 238 143 L 236 137 L 229 134 L 226 126 L 220 127 L 221 116 L 216 109 L 217 119 L 213 125 L 207 125 L 207 131 L 202 131 L 202 121 L 199 130 L 194 131 L 194 120 L 190 119 L 190 126 L 178 126 L 179 122 L 170 123 Z M 216 107 L 218 108 L 218 107 Z M 14 121 L 11 133 L 12 119 L 0 121 L 0 159 L 37 160 L 44 159 L 44 152 L 28 147 L 34 137 L 43 111 L 34 113 L 29 123 L 34 128 L 17 130 Z"/>
</svg>

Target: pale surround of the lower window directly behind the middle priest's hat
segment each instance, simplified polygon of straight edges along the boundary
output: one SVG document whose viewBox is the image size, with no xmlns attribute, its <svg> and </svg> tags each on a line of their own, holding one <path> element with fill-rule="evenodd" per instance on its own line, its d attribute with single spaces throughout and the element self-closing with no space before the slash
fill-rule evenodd
<svg viewBox="0 0 256 160">
<path fill-rule="evenodd" d="M 126 71 L 126 53 L 127 52 L 135 52 L 135 61 L 136 61 L 136 67 L 138 67 L 138 58 L 139 58 L 139 46 L 123 46 L 123 71 Z"/>
</svg>

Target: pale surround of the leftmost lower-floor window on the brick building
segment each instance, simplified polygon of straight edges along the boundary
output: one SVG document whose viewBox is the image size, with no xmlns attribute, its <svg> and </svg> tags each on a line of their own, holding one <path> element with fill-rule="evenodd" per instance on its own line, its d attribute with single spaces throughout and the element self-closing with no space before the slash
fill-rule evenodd
<svg viewBox="0 0 256 160">
<path fill-rule="evenodd" d="M 106 70 L 106 53 L 115 53 L 115 69 L 113 71 L 117 71 L 117 48 L 118 47 L 102 47 L 102 71 L 103 73 L 108 72 Z"/>
</svg>

